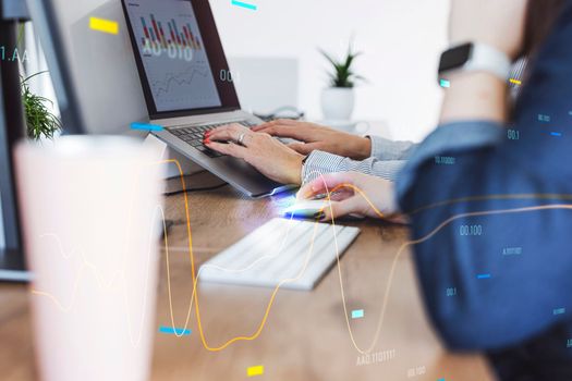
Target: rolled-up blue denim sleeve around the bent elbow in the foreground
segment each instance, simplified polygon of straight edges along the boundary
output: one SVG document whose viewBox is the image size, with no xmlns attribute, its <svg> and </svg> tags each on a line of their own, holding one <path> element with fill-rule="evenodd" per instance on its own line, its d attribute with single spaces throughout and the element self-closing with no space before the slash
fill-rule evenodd
<svg viewBox="0 0 572 381">
<path fill-rule="evenodd" d="M 572 183 L 513 143 L 495 123 L 443 125 L 397 179 L 425 305 L 452 348 L 501 348 L 571 320 Z"/>
</svg>

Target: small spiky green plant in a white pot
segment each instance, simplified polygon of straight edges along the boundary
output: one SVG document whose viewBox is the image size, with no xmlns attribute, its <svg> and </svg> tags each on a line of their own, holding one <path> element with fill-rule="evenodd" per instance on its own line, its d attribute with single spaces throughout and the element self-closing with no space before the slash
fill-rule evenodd
<svg viewBox="0 0 572 381">
<path fill-rule="evenodd" d="M 330 54 L 320 50 L 321 54 L 332 65 L 329 75 L 329 87 L 321 91 L 321 110 L 324 118 L 329 121 L 348 121 L 352 116 L 354 107 L 354 86 L 356 81 L 364 79 L 353 72 L 352 64 L 360 52 L 353 52 L 352 44 L 343 60 L 336 60 Z"/>
</svg>

